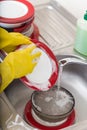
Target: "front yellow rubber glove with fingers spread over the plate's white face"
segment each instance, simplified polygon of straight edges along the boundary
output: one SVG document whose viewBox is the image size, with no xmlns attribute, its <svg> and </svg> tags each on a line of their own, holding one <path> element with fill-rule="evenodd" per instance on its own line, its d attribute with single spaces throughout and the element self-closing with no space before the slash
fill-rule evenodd
<svg viewBox="0 0 87 130">
<path fill-rule="evenodd" d="M 39 58 L 41 53 L 36 52 L 32 54 L 35 45 L 9 53 L 4 61 L 0 63 L 1 85 L 0 92 L 2 92 L 13 79 L 23 77 L 31 73 L 36 66 L 36 58 Z"/>
</svg>

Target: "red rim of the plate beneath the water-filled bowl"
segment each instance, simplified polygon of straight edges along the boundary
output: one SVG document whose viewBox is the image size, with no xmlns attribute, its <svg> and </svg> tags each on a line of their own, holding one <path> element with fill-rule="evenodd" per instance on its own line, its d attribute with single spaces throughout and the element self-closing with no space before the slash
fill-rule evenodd
<svg viewBox="0 0 87 130">
<path fill-rule="evenodd" d="M 72 125 L 75 121 L 75 110 L 72 111 L 72 113 L 69 115 L 67 120 L 63 122 L 62 124 L 58 126 L 45 126 L 40 123 L 38 123 L 32 116 L 32 103 L 31 100 L 26 104 L 25 110 L 24 110 L 24 116 L 26 121 L 33 127 L 38 128 L 40 130 L 60 130 L 65 127 L 68 127 Z"/>
</svg>

